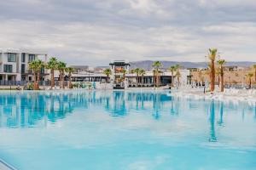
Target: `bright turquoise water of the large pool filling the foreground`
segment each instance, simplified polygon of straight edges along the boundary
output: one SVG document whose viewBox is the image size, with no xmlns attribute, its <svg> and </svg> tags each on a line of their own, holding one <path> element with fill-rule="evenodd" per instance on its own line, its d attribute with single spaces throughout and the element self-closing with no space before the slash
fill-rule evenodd
<svg viewBox="0 0 256 170">
<path fill-rule="evenodd" d="M 0 158 L 20 170 L 256 169 L 255 105 L 168 93 L 0 93 Z"/>
</svg>

